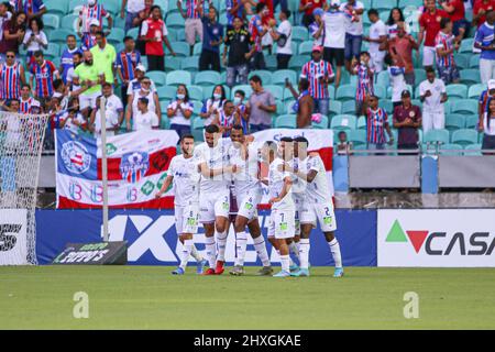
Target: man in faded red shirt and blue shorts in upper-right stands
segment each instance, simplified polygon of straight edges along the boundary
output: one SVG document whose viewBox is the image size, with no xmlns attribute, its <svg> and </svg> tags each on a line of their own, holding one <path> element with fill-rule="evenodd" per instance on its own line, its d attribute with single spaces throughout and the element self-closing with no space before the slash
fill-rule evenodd
<svg viewBox="0 0 495 352">
<path fill-rule="evenodd" d="M 405 68 L 404 78 L 406 84 L 415 86 L 415 68 L 413 65 L 413 51 L 419 51 L 419 44 L 413 35 L 407 34 L 406 24 L 399 22 L 396 24 L 397 33 L 388 41 L 388 52 L 393 57 L 397 57 L 398 64 Z"/>
</svg>

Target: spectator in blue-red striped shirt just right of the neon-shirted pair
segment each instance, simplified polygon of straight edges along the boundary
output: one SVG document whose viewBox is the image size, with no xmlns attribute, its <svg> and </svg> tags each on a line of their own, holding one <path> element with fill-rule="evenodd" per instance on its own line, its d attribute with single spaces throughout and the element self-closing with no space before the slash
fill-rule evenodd
<svg viewBox="0 0 495 352">
<path fill-rule="evenodd" d="M 117 54 L 117 74 L 121 81 L 121 97 L 123 99 L 123 107 L 128 105 L 128 88 L 131 80 L 134 79 L 134 70 L 141 64 L 141 54 L 135 50 L 135 41 L 132 36 L 123 38 L 124 48 Z"/>
</svg>

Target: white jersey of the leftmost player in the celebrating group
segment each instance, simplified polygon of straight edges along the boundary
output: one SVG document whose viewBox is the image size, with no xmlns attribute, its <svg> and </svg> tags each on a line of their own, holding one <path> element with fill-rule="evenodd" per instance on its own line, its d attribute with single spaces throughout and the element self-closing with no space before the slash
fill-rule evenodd
<svg viewBox="0 0 495 352">
<path fill-rule="evenodd" d="M 183 154 L 176 155 L 170 161 L 168 175 L 174 176 L 174 204 L 186 207 L 199 202 L 198 160 L 195 156 L 185 158 Z"/>
</svg>

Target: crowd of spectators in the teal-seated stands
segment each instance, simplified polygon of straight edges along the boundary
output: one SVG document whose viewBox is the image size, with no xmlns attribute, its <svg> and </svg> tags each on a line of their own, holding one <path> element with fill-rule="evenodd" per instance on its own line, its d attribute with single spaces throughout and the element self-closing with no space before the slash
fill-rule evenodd
<svg viewBox="0 0 495 352">
<path fill-rule="evenodd" d="M 332 128 L 339 151 L 495 150 L 495 0 L 45 2 L 0 3 L 0 108 L 50 113 L 48 150 L 54 129 L 101 133 L 102 97 L 111 134 Z"/>
</svg>

